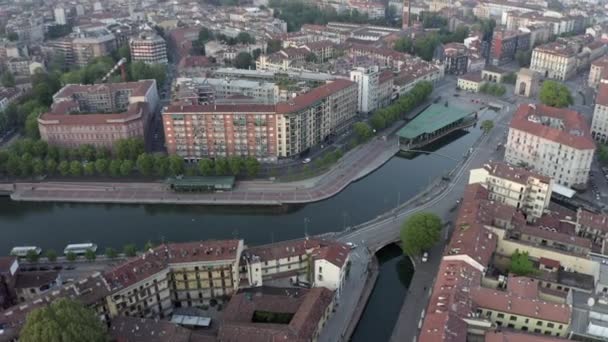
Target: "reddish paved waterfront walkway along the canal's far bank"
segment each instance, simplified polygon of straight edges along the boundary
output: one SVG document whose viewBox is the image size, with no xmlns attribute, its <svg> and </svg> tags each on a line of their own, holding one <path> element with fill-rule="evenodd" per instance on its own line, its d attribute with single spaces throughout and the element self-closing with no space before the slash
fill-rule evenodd
<svg viewBox="0 0 608 342">
<path fill-rule="evenodd" d="M 283 205 L 321 201 L 335 196 L 390 160 L 399 150 L 396 138 L 376 137 L 349 151 L 328 172 L 290 182 L 243 181 L 234 190 L 215 193 L 176 193 L 164 183 L 40 182 L 16 183 L 15 201 L 166 203 L 201 205 Z M 4 185 L 7 189 L 12 184 Z M 1 190 L 1 188 L 0 188 Z"/>
</svg>

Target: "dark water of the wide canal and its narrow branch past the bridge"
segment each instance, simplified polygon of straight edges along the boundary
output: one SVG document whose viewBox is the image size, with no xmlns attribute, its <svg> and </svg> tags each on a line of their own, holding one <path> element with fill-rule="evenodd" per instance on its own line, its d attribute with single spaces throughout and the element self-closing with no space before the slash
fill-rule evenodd
<svg viewBox="0 0 608 342">
<path fill-rule="evenodd" d="M 257 245 L 343 230 L 394 208 L 445 175 L 480 135 L 479 128 L 455 132 L 429 147 L 442 156 L 397 156 L 333 198 L 290 208 L 29 203 L 0 198 L 0 255 L 13 246 L 61 251 L 68 243 L 89 241 L 97 243 L 100 251 L 127 243 L 141 247 L 148 240 L 238 237 Z M 388 318 L 396 319 L 405 296 L 412 273 L 409 260 L 395 247 L 383 251 L 380 260 L 381 275 L 354 341 L 369 341 L 372 336 L 387 341 L 395 323 Z"/>
</svg>

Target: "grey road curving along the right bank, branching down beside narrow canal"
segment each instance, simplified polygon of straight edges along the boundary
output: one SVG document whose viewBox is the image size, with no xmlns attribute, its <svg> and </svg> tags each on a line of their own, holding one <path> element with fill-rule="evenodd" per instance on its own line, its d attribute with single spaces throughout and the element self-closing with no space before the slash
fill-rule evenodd
<svg viewBox="0 0 608 342">
<path fill-rule="evenodd" d="M 503 111 L 486 113 L 486 115 L 493 116 L 490 119 L 495 121 L 495 128 L 478 140 L 468 157 L 462 158 L 459 165 L 453 170 L 449 181 L 437 180 L 417 197 L 401 205 L 399 209 L 339 234 L 338 240 L 365 245 L 375 252 L 399 239 L 402 222 L 413 213 L 431 211 L 440 215 L 444 222 L 453 220 L 456 202 L 462 196 L 464 187 L 468 183 L 468 171 L 471 168 L 481 167 L 489 159 L 502 157 L 502 150 L 497 150 L 496 146 L 504 141 L 510 114 L 515 109 L 514 105 L 504 104 Z M 411 341 L 417 336 L 418 321 L 422 311 L 426 308 L 428 291 L 433 284 L 448 233 L 448 229 L 444 229 L 445 239 L 429 251 L 428 262 L 421 263 L 419 260 L 413 260 L 416 271 L 393 331 L 392 340 Z"/>
</svg>

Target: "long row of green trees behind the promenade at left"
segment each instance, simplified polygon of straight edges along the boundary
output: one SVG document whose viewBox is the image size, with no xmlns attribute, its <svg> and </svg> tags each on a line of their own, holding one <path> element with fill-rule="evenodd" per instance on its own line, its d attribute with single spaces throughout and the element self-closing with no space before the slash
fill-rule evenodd
<svg viewBox="0 0 608 342">
<path fill-rule="evenodd" d="M 0 151 L 0 174 L 9 177 L 129 177 L 135 174 L 160 178 L 183 174 L 254 177 L 259 170 L 260 164 L 253 157 L 202 159 L 196 165 L 186 165 L 177 155 L 145 153 L 140 138 L 120 140 L 113 151 L 92 145 L 62 148 L 32 139 L 19 140 L 8 150 Z"/>
</svg>

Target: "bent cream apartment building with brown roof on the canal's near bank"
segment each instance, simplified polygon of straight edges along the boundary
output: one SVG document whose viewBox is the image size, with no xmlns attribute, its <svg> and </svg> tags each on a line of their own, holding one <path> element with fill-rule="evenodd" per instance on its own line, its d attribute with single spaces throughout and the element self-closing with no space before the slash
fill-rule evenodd
<svg viewBox="0 0 608 342">
<path fill-rule="evenodd" d="M 163 318 L 174 308 L 208 304 L 239 285 L 243 240 L 164 244 L 104 273 L 113 316 Z"/>
</svg>

